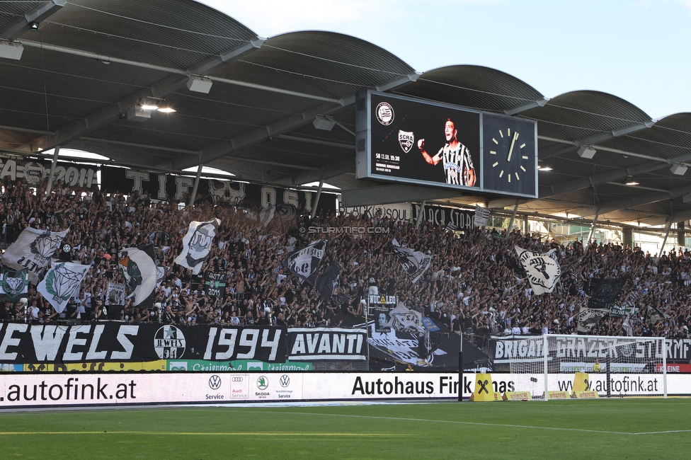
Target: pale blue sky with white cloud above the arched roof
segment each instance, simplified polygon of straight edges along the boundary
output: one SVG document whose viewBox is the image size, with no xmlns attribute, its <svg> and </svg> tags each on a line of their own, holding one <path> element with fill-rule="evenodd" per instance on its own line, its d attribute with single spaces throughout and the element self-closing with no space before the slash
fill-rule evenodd
<svg viewBox="0 0 691 460">
<path fill-rule="evenodd" d="M 259 36 L 333 30 L 417 71 L 476 64 L 548 98 L 590 89 L 653 118 L 691 112 L 691 0 L 202 0 Z M 675 108 L 676 105 L 676 108 Z"/>
</svg>

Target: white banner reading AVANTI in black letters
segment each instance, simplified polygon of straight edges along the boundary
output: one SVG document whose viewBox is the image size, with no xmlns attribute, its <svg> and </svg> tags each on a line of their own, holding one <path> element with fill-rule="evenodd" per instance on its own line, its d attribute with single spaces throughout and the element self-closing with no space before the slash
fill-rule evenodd
<svg viewBox="0 0 691 460">
<path fill-rule="evenodd" d="M 289 328 L 290 361 L 366 360 L 367 331 L 345 328 Z"/>
</svg>

